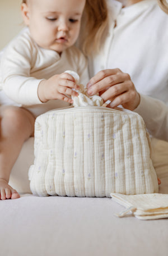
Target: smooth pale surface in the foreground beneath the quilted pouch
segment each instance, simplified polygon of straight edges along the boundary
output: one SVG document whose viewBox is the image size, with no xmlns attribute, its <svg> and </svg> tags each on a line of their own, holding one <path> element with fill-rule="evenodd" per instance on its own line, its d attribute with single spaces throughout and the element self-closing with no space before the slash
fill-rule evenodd
<svg viewBox="0 0 168 256">
<path fill-rule="evenodd" d="M 122 219 L 110 198 L 24 195 L 0 203 L 1 256 L 158 256 L 168 220 Z"/>
</svg>

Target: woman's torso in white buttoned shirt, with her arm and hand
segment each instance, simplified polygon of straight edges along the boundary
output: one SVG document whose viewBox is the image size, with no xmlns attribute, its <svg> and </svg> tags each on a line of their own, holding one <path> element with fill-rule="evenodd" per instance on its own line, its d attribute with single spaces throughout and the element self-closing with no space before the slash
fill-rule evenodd
<svg viewBox="0 0 168 256">
<path fill-rule="evenodd" d="M 168 10 L 166 0 L 158 2 Z M 99 54 L 88 57 L 93 76 L 88 94 L 99 92 L 104 102 L 110 100 L 108 107 L 122 104 L 136 111 L 153 136 L 168 141 L 168 16 L 156 0 L 108 4 L 105 43 Z"/>
</svg>

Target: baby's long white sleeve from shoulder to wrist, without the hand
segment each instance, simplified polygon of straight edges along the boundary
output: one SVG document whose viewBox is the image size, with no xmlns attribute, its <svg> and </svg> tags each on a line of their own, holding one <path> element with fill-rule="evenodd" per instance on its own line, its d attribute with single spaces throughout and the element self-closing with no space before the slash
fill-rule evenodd
<svg viewBox="0 0 168 256">
<path fill-rule="evenodd" d="M 22 105 L 41 103 L 38 85 L 43 79 L 30 77 L 32 54 L 29 40 L 20 36 L 6 47 L 1 58 L 2 89 L 10 99 Z"/>
</svg>

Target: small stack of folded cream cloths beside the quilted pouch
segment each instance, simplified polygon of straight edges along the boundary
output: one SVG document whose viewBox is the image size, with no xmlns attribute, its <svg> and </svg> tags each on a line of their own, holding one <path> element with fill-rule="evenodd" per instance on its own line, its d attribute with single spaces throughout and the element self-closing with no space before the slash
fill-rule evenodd
<svg viewBox="0 0 168 256">
<path fill-rule="evenodd" d="M 168 194 L 123 195 L 111 193 L 110 196 L 115 202 L 127 207 L 125 211 L 116 214 L 118 217 L 124 217 L 127 213 L 132 212 L 139 220 L 168 218 Z"/>
</svg>

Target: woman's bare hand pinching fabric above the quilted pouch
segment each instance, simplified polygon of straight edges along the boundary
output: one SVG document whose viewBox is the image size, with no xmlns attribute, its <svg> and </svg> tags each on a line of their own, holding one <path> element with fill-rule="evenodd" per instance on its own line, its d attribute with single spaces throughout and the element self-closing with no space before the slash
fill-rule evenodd
<svg viewBox="0 0 168 256">
<path fill-rule="evenodd" d="M 95 95 L 99 93 L 104 102 L 110 100 L 107 107 L 115 108 L 122 105 L 124 108 L 134 110 L 140 102 L 130 76 L 119 68 L 102 70 L 98 72 L 87 84 L 87 93 Z"/>
</svg>

